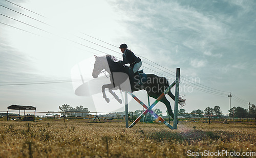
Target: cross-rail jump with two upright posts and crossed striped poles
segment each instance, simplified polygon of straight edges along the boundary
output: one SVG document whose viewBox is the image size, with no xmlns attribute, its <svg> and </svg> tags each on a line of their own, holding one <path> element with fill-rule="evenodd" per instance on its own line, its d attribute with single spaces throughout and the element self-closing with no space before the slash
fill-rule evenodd
<svg viewBox="0 0 256 158">
<path fill-rule="evenodd" d="M 136 123 L 140 121 L 143 116 L 150 112 L 154 117 L 163 122 L 170 129 L 177 129 L 177 118 L 178 118 L 178 101 L 179 101 L 179 85 L 180 85 L 180 68 L 176 69 L 176 80 L 151 104 L 147 107 L 142 101 L 140 101 L 133 93 L 125 92 L 125 126 L 126 128 L 132 128 Z M 167 123 L 163 118 L 158 116 L 151 109 L 162 99 L 162 97 L 170 91 L 175 86 L 175 103 L 174 103 L 174 124 L 173 126 Z M 127 103 L 127 93 L 129 93 L 136 101 L 138 101 L 145 109 L 144 111 L 130 126 L 128 122 L 128 103 Z"/>
</svg>

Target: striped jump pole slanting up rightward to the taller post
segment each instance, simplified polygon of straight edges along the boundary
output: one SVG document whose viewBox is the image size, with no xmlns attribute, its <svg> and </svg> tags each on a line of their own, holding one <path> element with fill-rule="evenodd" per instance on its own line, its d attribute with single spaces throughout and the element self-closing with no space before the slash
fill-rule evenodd
<svg viewBox="0 0 256 158">
<path fill-rule="evenodd" d="M 172 89 L 176 84 L 176 81 L 174 81 L 172 83 L 172 85 L 170 85 L 154 102 L 153 104 L 147 108 L 146 111 L 144 111 L 143 114 L 141 114 L 128 128 L 132 128 L 136 123 L 138 123 L 140 121 L 140 119 L 145 116 L 153 107 L 155 107 L 155 105 L 158 103 L 158 101 L 160 101 L 162 99 L 162 97 L 168 93 L 170 91 L 170 89 Z"/>
</svg>

